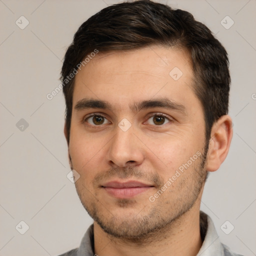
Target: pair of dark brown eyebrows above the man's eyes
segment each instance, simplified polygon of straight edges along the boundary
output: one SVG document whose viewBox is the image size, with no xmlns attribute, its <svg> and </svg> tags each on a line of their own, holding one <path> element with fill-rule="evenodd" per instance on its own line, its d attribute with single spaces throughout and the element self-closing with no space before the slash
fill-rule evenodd
<svg viewBox="0 0 256 256">
<path fill-rule="evenodd" d="M 170 100 L 166 97 L 133 102 L 132 104 L 129 104 L 129 107 L 134 113 L 139 112 L 142 109 L 161 107 L 168 110 L 175 110 L 180 113 L 186 114 L 186 108 L 184 105 L 178 104 L 175 101 Z M 109 102 L 100 99 L 83 98 L 79 100 L 74 106 L 75 110 L 82 110 L 88 108 L 109 109 L 113 111 L 111 104 Z"/>
</svg>

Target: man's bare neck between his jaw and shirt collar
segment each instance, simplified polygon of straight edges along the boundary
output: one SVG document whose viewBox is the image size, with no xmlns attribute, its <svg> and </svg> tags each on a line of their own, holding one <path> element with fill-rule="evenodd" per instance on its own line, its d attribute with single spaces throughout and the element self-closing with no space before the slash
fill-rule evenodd
<svg viewBox="0 0 256 256">
<path fill-rule="evenodd" d="M 94 221 L 94 253 L 99 256 L 170 255 L 195 256 L 201 245 L 199 202 L 144 240 L 130 241 L 105 233 Z"/>
</svg>

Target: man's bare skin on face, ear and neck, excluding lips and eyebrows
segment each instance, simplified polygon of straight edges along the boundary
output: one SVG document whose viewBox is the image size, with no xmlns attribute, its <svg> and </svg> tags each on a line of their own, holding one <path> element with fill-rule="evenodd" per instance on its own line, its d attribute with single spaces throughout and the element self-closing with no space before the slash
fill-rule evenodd
<svg viewBox="0 0 256 256">
<path fill-rule="evenodd" d="M 178 80 L 169 75 L 173 67 L 182 71 Z M 205 176 L 225 159 L 232 129 L 230 117 L 220 117 L 207 148 L 203 109 L 192 78 L 185 50 L 156 45 L 99 52 L 76 74 L 68 151 L 70 166 L 80 175 L 77 193 L 94 219 L 96 254 L 192 256 L 199 251 Z M 84 98 L 107 101 L 111 109 L 75 107 Z M 133 102 L 161 98 L 182 107 L 130 108 Z M 105 118 L 89 117 L 92 114 Z M 131 125 L 126 131 L 118 126 L 123 118 Z M 64 133 L 67 136 L 66 128 Z M 196 152 L 200 155 L 189 167 L 150 201 Z M 131 179 L 150 187 L 124 199 L 102 187 L 108 181 Z"/>
</svg>

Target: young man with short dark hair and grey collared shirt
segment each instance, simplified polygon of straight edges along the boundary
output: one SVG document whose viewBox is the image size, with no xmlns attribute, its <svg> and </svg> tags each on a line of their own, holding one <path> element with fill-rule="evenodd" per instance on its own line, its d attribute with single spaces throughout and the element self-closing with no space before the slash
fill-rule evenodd
<svg viewBox="0 0 256 256">
<path fill-rule="evenodd" d="M 93 218 L 62 255 L 238 255 L 200 211 L 231 137 L 227 53 L 183 10 L 148 0 L 85 21 L 61 71 L 64 133 Z"/>
</svg>

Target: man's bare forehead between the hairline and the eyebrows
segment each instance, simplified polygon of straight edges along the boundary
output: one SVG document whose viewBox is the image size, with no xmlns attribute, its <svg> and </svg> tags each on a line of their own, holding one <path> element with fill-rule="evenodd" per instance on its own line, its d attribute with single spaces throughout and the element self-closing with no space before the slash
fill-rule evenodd
<svg viewBox="0 0 256 256">
<path fill-rule="evenodd" d="M 186 101 L 195 96 L 192 81 L 190 57 L 183 49 L 154 45 L 99 51 L 75 75 L 73 103 L 83 97 L 119 106 L 159 96 Z"/>
</svg>

